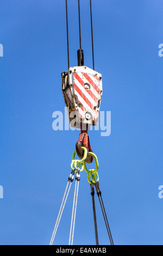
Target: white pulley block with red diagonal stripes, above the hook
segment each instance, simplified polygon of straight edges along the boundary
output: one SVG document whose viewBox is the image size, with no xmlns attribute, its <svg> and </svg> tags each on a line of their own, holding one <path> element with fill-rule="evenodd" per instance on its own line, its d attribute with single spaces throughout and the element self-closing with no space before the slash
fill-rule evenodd
<svg viewBox="0 0 163 256">
<path fill-rule="evenodd" d="M 103 93 L 102 75 L 86 66 L 72 66 L 68 72 L 62 72 L 61 79 L 70 125 L 77 129 L 81 123 L 83 127 L 97 125 Z"/>
</svg>

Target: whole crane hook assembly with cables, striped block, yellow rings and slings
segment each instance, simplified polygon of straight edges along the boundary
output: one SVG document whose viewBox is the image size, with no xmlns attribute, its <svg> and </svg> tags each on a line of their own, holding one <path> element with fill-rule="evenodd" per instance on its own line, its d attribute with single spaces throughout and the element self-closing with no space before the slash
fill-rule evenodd
<svg viewBox="0 0 163 256">
<path fill-rule="evenodd" d="M 66 28 L 67 28 L 67 60 L 68 60 L 68 71 L 62 72 L 62 94 L 64 96 L 68 118 L 70 125 L 77 129 L 80 129 L 79 139 L 76 143 L 76 150 L 72 154 L 71 161 L 71 174 L 68 177 L 68 182 L 66 185 L 64 197 L 62 198 L 61 206 L 59 209 L 59 214 L 57 221 L 55 222 L 53 234 L 49 245 L 53 244 L 55 234 L 58 229 L 58 225 L 62 216 L 62 212 L 65 207 L 65 203 L 70 191 L 72 181 L 74 179 L 74 173 L 76 173 L 76 183 L 74 188 L 73 196 L 73 206 L 72 206 L 72 216 L 71 216 L 71 226 L 70 226 L 70 236 L 68 245 L 73 244 L 74 235 L 74 225 L 76 221 L 76 211 L 77 211 L 77 199 L 78 199 L 78 189 L 80 181 L 80 173 L 85 170 L 87 173 L 87 180 L 91 186 L 91 196 L 92 196 L 92 207 L 93 207 L 93 218 L 95 225 L 95 237 L 96 245 L 98 245 L 98 231 L 97 231 L 97 219 L 96 219 L 96 208 L 95 208 L 95 190 L 96 187 L 97 196 L 99 198 L 99 203 L 101 205 L 106 229 L 108 231 L 109 240 L 111 245 L 114 245 L 111 231 L 108 223 L 108 218 L 106 216 L 104 203 L 102 199 L 101 190 L 99 188 L 99 176 L 98 170 L 98 160 L 97 156 L 93 153 L 89 136 L 87 135 L 87 130 L 89 130 L 90 125 L 97 125 L 99 117 L 99 108 L 102 99 L 102 75 L 95 71 L 95 60 L 94 60 L 94 47 L 93 47 L 93 26 L 92 26 L 92 2 L 90 0 L 90 14 L 91 14 L 91 36 L 92 36 L 92 61 L 93 69 L 88 68 L 84 64 L 84 50 L 82 50 L 82 39 L 81 39 L 81 25 L 80 25 L 80 0 L 78 0 L 78 14 L 79 14 L 79 44 L 80 48 L 77 51 L 78 66 L 70 66 L 70 56 L 69 56 L 69 38 L 68 38 L 68 7 L 66 0 Z M 81 160 L 75 160 L 75 155 Z M 95 159 L 96 167 L 95 169 L 87 169 L 86 163 L 91 163 Z M 70 182 L 71 181 L 71 182 Z M 69 185 L 70 184 L 70 185 Z M 69 185 L 69 187 L 68 187 Z M 68 191 L 67 191 L 68 189 Z"/>
</svg>

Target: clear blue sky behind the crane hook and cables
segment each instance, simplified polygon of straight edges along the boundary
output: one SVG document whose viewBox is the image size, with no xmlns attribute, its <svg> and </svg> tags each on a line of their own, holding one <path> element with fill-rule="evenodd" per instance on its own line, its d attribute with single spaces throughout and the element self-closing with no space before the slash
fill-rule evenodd
<svg viewBox="0 0 163 256">
<path fill-rule="evenodd" d="M 92 68 L 89 0 L 81 0 L 82 48 Z M 77 65 L 78 1 L 68 1 L 70 65 Z M 115 245 L 162 245 L 163 3 L 92 1 L 95 70 L 111 134 L 90 131 L 99 184 Z M 64 113 L 67 71 L 64 0 L 1 0 L 0 244 L 48 245 L 70 174 L 79 131 L 54 131 Z M 90 164 L 91 167 L 93 163 Z M 74 184 L 55 236 L 67 245 Z M 108 245 L 98 198 L 99 244 Z M 90 186 L 81 174 L 74 245 L 95 245 Z"/>
</svg>

